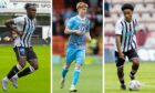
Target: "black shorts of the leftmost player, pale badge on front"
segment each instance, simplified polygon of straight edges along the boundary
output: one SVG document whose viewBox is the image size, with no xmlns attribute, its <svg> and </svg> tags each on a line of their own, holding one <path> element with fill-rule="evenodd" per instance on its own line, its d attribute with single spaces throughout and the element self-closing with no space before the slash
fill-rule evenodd
<svg viewBox="0 0 155 93">
<path fill-rule="evenodd" d="M 37 59 L 37 54 L 34 53 L 32 46 L 31 48 L 23 48 L 23 46 L 16 46 L 13 48 L 17 60 L 19 60 L 19 56 L 27 58 L 27 61 L 30 62 L 32 59 Z"/>
</svg>

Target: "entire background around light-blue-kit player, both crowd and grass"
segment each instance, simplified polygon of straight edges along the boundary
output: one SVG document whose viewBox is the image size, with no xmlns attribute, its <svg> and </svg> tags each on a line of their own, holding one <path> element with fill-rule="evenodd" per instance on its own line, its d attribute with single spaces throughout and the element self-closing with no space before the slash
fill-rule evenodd
<svg viewBox="0 0 155 93">
<path fill-rule="evenodd" d="M 101 93 L 102 91 L 102 0 L 53 0 L 52 18 L 52 63 L 53 63 L 53 93 L 66 93 L 71 85 L 73 65 L 68 74 L 66 86 L 61 90 L 61 70 L 64 64 L 65 49 L 69 35 L 64 34 L 64 22 L 75 16 L 76 3 L 89 3 L 89 19 L 91 20 L 92 41 L 86 43 L 86 59 L 82 68 L 81 80 L 78 85 L 81 93 Z M 90 90 L 90 87 L 92 90 Z"/>
</svg>

